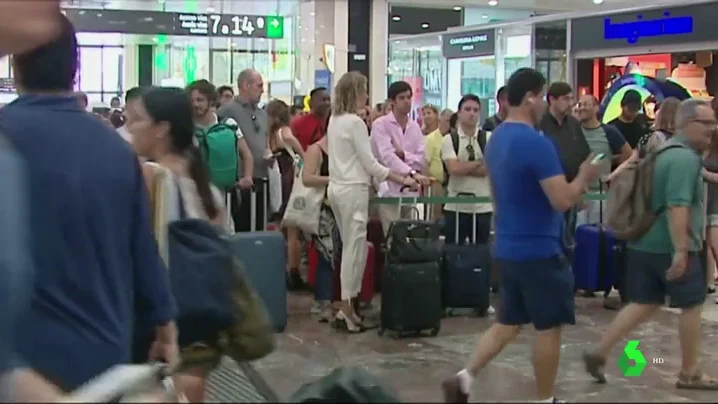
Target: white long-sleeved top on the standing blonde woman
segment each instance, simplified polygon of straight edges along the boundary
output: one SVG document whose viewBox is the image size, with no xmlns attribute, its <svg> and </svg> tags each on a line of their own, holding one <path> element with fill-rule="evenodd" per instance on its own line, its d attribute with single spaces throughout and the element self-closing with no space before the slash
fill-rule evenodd
<svg viewBox="0 0 718 404">
<path fill-rule="evenodd" d="M 330 183 L 369 186 L 372 177 L 384 181 L 389 175 L 389 169 L 374 157 L 366 124 L 357 115 L 333 115 L 327 143 Z"/>
</svg>

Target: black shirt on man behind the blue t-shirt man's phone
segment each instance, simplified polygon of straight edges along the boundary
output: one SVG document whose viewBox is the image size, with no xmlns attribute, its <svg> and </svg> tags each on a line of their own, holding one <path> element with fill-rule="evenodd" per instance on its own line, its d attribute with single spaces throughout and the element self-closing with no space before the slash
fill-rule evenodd
<svg viewBox="0 0 718 404">
<path fill-rule="evenodd" d="M 546 112 L 539 127 L 544 136 L 551 139 L 556 146 L 566 179 L 573 181 L 578 175 L 581 163 L 591 154 L 581 122 L 571 115 L 564 118 L 563 122 L 558 122 L 550 112 Z"/>
</svg>

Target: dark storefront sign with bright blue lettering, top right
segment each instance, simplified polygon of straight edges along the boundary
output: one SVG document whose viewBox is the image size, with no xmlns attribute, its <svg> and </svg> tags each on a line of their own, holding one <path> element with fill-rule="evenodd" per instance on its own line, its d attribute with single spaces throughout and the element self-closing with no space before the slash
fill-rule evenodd
<svg viewBox="0 0 718 404">
<path fill-rule="evenodd" d="M 718 3 L 571 20 L 574 51 L 715 40 Z"/>
</svg>

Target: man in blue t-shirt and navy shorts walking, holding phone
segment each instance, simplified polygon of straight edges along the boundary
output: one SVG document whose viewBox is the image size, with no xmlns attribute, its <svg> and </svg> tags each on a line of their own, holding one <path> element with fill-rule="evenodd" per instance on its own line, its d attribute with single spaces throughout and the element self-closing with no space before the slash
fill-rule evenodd
<svg viewBox="0 0 718 404">
<path fill-rule="evenodd" d="M 555 402 L 561 326 L 575 324 L 573 274 L 561 253 L 563 215 L 597 177 L 584 161 L 566 181 L 553 143 L 535 127 L 545 109 L 546 80 L 524 68 L 509 78 L 509 113 L 486 146 L 494 198 L 494 258 L 501 271 L 501 310 L 466 368 L 443 383 L 446 402 L 467 402 L 476 374 L 525 324 L 537 331 L 534 373 L 537 398 Z"/>
</svg>

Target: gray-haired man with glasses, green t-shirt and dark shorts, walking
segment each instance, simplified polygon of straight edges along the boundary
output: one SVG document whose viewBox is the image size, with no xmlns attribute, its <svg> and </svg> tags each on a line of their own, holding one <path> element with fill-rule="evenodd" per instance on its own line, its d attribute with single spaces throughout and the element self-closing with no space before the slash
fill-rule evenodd
<svg viewBox="0 0 718 404">
<path fill-rule="evenodd" d="M 681 309 L 678 337 L 683 354 L 676 387 L 718 390 L 718 381 L 698 364 L 701 312 L 706 277 L 700 260 L 704 228 L 702 161 L 718 121 L 706 101 L 688 99 L 676 116 L 676 134 L 656 157 L 651 205 L 657 219 L 639 239 L 627 244 L 626 305 L 613 320 L 598 349 L 583 356 L 586 370 L 605 383 L 611 349 L 648 320 L 670 298 Z"/>
</svg>

